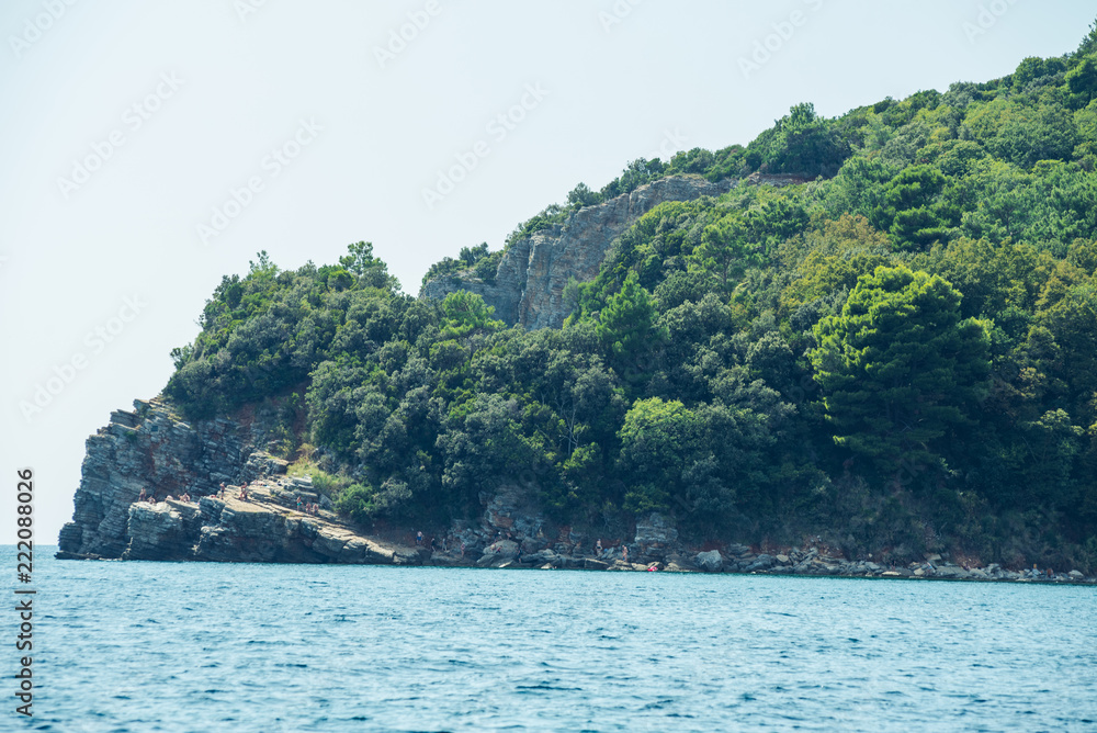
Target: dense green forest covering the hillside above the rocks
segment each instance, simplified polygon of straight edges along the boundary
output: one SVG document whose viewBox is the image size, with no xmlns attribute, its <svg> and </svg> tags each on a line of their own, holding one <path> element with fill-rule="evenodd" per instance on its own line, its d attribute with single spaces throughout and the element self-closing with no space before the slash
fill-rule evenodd
<svg viewBox="0 0 1097 733">
<path fill-rule="evenodd" d="M 1097 33 L 746 147 L 637 160 L 512 238 L 656 178 L 753 172 L 660 204 L 527 332 L 466 292 L 338 264 L 225 278 L 166 395 L 280 416 L 273 449 L 355 519 L 446 522 L 500 483 L 562 523 L 849 555 L 949 550 L 1097 570 Z M 467 248 L 428 273 L 498 253 Z"/>
</svg>

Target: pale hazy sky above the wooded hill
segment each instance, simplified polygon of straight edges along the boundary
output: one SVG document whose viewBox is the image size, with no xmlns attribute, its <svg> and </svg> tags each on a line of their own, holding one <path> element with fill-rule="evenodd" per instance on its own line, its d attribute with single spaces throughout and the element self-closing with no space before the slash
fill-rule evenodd
<svg viewBox="0 0 1097 733">
<path fill-rule="evenodd" d="M 367 240 L 405 292 L 640 157 L 1077 47 L 1075 0 L 4 0 L 0 542 L 72 515 L 225 274 Z M 9 488 L 10 487 L 10 488 Z"/>
</svg>

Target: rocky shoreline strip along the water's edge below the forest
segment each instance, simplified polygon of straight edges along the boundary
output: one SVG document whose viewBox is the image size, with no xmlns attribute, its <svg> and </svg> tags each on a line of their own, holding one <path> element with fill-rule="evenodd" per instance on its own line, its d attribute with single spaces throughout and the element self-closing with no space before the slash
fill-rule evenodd
<svg viewBox="0 0 1097 733">
<path fill-rule="evenodd" d="M 637 526 L 636 542 L 629 545 L 631 561 L 623 556 L 621 546 L 607 548 L 601 553 L 585 551 L 583 538 L 576 535 L 555 543 L 547 542 L 543 534 L 533 539 L 532 532 L 521 531 L 530 523 L 529 518 L 507 506 L 507 499 L 512 498 L 507 495 L 489 504 L 479 527 L 465 523 L 446 534 L 448 546 L 465 543 L 462 555 L 452 549 L 432 551 L 426 538 L 422 545 L 415 546 L 363 533 L 329 508 L 319 509 L 315 515 L 301 512 L 293 508 L 297 498 L 315 497 L 305 488 L 307 483 L 301 480 L 280 476 L 253 482 L 249 486 L 248 500 L 238 498 L 240 487 L 234 485 L 226 487 L 224 499 L 211 495 L 196 501 L 174 498 L 134 501 L 126 512 L 124 551 L 115 556 L 72 552 L 65 550 L 63 542 L 55 557 L 1097 585 L 1097 577 L 1077 571 L 1049 576 L 1045 571 L 1037 575 L 1032 571 L 1011 571 L 997 564 L 963 567 L 942 561 L 939 555 L 930 555 L 921 563 L 894 565 L 837 557 L 816 548 L 756 552 L 744 544 L 727 544 L 719 550 L 698 551 L 677 541 L 677 532 L 658 517 Z M 512 534 L 512 530 L 519 530 L 518 534 Z"/>
</svg>

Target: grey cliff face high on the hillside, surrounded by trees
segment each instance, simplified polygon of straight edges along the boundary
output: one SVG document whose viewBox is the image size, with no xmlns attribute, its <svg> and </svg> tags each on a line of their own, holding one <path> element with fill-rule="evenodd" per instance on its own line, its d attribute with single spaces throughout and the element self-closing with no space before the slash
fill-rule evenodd
<svg viewBox="0 0 1097 733">
<path fill-rule="evenodd" d="M 598 268 L 610 245 L 636 219 L 666 201 L 692 201 L 732 190 L 738 181 L 710 183 L 697 177 L 676 176 L 642 185 L 597 206 L 575 212 L 564 224 L 519 239 L 499 262 L 495 284 L 444 277 L 423 285 L 421 296 L 443 298 L 457 290 L 478 293 L 495 306 L 508 325 L 529 329 L 564 324 L 568 309 L 564 286 L 570 278 L 586 281 Z"/>
</svg>

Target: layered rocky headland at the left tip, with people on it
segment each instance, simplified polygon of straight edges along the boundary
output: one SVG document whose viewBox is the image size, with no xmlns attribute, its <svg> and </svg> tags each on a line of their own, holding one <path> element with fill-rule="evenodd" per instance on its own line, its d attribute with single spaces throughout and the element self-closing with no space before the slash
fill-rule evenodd
<svg viewBox="0 0 1097 733">
<path fill-rule="evenodd" d="M 59 557 L 220 562 L 421 564 L 421 551 L 365 538 L 329 511 L 327 498 L 286 462 L 257 448 L 261 420 L 183 422 L 159 401 L 136 401 L 88 438 L 72 521 Z M 241 482 L 250 497 L 238 498 Z M 216 494 L 229 486 L 225 498 Z M 139 501 L 142 489 L 156 501 Z M 183 494 L 191 496 L 182 501 Z M 172 496 L 172 499 L 168 499 Z M 296 498 L 317 515 L 294 511 Z"/>
</svg>

